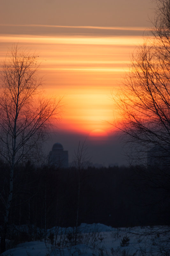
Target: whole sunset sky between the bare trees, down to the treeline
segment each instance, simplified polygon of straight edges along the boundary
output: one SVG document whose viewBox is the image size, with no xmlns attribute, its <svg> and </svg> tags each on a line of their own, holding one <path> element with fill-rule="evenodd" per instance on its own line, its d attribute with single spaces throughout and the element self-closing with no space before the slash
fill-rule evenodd
<svg viewBox="0 0 170 256">
<path fill-rule="evenodd" d="M 69 161 L 86 139 L 93 163 L 126 164 L 113 123 L 111 92 L 150 27 L 149 0 L 0 0 L 0 61 L 13 44 L 38 53 L 47 95 L 62 98 L 61 120 L 47 145 Z"/>
</svg>

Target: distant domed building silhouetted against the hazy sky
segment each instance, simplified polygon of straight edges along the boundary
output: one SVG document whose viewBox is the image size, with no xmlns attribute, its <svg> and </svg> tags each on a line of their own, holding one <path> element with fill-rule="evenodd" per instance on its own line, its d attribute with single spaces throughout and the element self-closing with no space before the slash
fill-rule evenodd
<svg viewBox="0 0 170 256">
<path fill-rule="evenodd" d="M 69 157 L 68 151 L 63 150 L 63 146 L 60 143 L 55 143 L 52 147 L 52 150 L 48 155 L 49 163 L 55 165 L 59 168 L 68 168 L 69 165 Z"/>
</svg>

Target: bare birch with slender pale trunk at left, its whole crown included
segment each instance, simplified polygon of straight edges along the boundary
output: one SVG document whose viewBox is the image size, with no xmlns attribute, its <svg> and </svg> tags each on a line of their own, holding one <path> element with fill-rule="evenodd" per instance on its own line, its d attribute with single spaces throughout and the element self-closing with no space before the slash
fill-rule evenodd
<svg viewBox="0 0 170 256">
<path fill-rule="evenodd" d="M 13 196 L 15 166 L 30 157 L 45 139 L 51 122 L 57 118 L 59 101 L 44 98 L 37 76 L 38 56 L 17 46 L 8 52 L 1 71 L 0 84 L 0 156 L 10 169 L 9 188 L 4 203 L 1 252 Z"/>
</svg>

